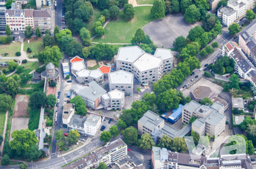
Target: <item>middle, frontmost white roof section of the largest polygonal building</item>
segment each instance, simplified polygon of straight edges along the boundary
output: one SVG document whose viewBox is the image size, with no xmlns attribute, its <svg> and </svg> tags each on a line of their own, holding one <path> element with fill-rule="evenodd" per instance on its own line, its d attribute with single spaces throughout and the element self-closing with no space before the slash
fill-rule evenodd
<svg viewBox="0 0 256 169">
<path fill-rule="evenodd" d="M 140 71 L 146 71 L 149 69 L 157 68 L 161 62 L 162 59 L 156 58 L 151 54 L 144 53 L 139 59 L 134 62 L 134 65 Z"/>
</svg>

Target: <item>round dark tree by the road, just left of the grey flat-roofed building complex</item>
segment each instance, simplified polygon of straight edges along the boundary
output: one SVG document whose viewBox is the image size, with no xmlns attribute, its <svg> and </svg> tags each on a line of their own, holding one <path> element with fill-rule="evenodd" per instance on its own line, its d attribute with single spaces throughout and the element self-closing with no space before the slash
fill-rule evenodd
<svg viewBox="0 0 256 169">
<path fill-rule="evenodd" d="M 123 133 L 123 141 L 127 145 L 137 145 L 138 143 L 138 130 L 134 127 L 126 128 Z"/>
</svg>

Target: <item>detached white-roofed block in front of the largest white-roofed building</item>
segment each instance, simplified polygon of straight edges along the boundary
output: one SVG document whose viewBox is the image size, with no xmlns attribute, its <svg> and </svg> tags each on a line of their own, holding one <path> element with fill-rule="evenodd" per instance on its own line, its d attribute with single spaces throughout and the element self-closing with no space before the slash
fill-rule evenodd
<svg viewBox="0 0 256 169">
<path fill-rule="evenodd" d="M 109 90 L 118 89 L 126 95 L 133 96 L 134 93 L 134 74 L 118 70 L 109 73 Z"/>
</svg>

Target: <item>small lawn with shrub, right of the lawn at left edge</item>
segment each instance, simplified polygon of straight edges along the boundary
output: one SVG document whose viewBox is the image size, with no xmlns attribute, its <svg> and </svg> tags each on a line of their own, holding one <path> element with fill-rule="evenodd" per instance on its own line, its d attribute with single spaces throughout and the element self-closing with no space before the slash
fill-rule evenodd
<svg viewBox="0 0 256 169">
<path fill-rule="evenodd" d="M 42 43 L 43 37 L 31 37 L 28 43 L 28 39 L 26 38 L 24 40 L 24 47 L 23 51 L 27 51 L 28 48 L 32 50 L 31 53 L 28 53 L 29 58 L 33 56 L 33 54 L 38 54 L 40 51 L 43 51 L 45 49 L 45 46 L 43 46 Z"/>
</svg>

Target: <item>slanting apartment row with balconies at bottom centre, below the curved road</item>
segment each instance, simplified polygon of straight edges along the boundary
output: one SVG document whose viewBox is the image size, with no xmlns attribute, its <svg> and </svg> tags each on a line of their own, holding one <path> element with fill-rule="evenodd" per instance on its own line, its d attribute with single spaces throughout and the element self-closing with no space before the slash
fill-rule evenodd
<svg viewBox="0 0 256 169">
<path fill-rule="evenodd" d="M 64 169 L 98 168 L 101 162 L 109 166 L 125 157 L 127 157 L 127 145 L 122 139 L 118 138 L 103 147 L 95 149 L 93 153 L 82 159 L 65 166 Z"/>
</svg>

